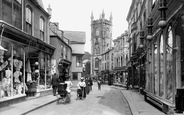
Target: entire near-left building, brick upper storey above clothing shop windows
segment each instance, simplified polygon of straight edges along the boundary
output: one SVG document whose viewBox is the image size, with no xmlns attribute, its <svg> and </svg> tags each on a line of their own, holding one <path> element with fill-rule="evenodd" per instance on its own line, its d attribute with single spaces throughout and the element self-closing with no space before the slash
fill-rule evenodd
<svg viewBox="0 0 184 115">
<path fill-rule="evenodd" d="M 0 0 L 0 102 L 51 88 L 50 15 L 39 0 Z M 3 48 L 2 48 L 3 47 Z"/>
</svg>

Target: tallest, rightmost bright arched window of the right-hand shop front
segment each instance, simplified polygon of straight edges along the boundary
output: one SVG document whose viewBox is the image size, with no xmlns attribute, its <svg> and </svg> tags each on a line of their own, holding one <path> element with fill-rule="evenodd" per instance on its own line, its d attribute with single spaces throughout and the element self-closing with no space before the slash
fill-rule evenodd
<svg viewBox="0 0 184 115">
<path fill-rule="evenodd" d="M 172 28 L 168 28 L 168 37 L 166 40 L 166 88 L 167 94 L 166 99 L 173 100 L 173 34 Z"/>
</svg>

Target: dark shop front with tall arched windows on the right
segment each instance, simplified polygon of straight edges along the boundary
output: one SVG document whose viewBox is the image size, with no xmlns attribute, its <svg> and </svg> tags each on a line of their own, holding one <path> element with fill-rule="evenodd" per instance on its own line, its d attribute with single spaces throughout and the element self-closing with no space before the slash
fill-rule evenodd
<svg viewBox="0 0 184 115">
<path fill-rule="evenodd" d="M 160 25 L 154 30 L 153 40 L 147 45 L 149 63 L 146 63 L 145 86 L 145 99 L 166 113 L 170 108 L 184 111 L 183 98 L 176 98 L 177 89 L 184 87 L 184 7 L 180 2 L 170 0 L 167 8 L 165 27 Z M 156 17 L 153 16 L 153 20 Z M 158 22 L 155 20 L 154 24 Z"/>
</svg>

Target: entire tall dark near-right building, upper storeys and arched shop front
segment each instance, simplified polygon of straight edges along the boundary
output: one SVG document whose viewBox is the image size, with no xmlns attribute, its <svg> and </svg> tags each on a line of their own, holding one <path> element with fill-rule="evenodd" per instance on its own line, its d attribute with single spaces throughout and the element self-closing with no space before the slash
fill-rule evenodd
<svg viewBox="0 0 184 115">
<path fill-rule="evenodd" d="M 137 0 L 132 2 L 127 16 L 131 26 L 133 14 L 136 11 L 140 14 L 135 21 L 140 26 L 139 48 L 130 57 L 132 74 L 138 70 L 138 76 L 145 75 L 145 80 L 139 77 L 139 83 L 144 84 L 145 99 L 166 113 L 170 108 L 184 111 L 182 99 L 176 98 L 183 87 L 183 3 L 182 0 Z M 140 10 L 134 10 L 138 4 Z"/>
</svg>

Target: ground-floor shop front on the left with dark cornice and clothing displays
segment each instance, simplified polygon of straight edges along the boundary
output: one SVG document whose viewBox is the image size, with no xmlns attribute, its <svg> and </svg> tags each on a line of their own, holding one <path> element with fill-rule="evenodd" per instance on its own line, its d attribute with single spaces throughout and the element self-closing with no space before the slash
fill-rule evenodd
<svg viewBox="0 0 184 115">
<path fill-rule="evenodd" d="M 4 24 L 0 28 L 0 107 L 25 100 L 27 96 L 41 96 L 51 89 L 50 60 L 54 47 L 26 33 Z M 31 93 L 29 93 L 31 92 Z"/>
</svg>

